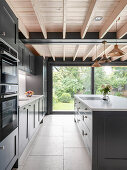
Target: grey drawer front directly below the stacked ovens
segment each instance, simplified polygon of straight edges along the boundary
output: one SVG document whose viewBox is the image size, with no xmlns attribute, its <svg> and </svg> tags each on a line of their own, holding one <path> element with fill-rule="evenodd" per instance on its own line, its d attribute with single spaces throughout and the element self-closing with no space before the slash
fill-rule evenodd
<svg viewBox="0 0 127 170">
<path fill-rule="evenodd" d="M 10 170 L 18 160 L 18 128 L 0 143 L 0 170 Z"/>
</svg>

